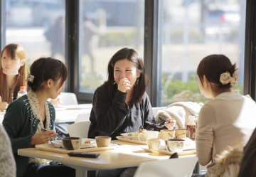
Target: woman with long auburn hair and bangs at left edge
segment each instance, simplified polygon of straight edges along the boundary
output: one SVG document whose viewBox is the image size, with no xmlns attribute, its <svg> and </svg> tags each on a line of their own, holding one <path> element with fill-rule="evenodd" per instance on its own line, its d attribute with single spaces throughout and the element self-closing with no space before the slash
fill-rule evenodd
<svg viewBox="0 0 256 177">
<path fill-rule="evenodd" d="M 21 45 L 11 43 L 1 51 L 0 111 L 16 100 L 18 90 L 26 86 L 26 55 Z"/>
</svg>

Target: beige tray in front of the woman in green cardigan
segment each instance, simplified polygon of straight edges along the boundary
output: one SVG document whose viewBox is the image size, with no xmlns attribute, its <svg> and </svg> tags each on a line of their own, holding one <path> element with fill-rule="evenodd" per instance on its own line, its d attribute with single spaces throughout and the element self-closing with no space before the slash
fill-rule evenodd
<svg viewBox="0 0 256 177">
<path fill-rule="evenodd" d="M 38 144 L 36 145 L 36 149 L 41 151 L 50 151 L 62 154 L 68 154 L 70 152 L 93 152 L 93 151 L 106 151 L 114 149 L 112 146 L 109 147 L 90 147 L 85 149 L 78 149 L 78 150 L 66 150 L 63 148 L 54 147 L 51 144 Z"/>
</svg>

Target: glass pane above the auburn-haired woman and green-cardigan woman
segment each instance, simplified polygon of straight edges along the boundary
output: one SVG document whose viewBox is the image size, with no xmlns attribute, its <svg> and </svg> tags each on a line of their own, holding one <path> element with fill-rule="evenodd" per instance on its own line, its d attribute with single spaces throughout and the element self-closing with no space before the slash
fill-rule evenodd
<svg viewBox="0 0 256 177">
<path fill-rule="evenodd" d="M 40 57 L 64 60 L 65 1 L 6 0 L 6 44 L 18 43 L 27 66 Z"/>
</svg>

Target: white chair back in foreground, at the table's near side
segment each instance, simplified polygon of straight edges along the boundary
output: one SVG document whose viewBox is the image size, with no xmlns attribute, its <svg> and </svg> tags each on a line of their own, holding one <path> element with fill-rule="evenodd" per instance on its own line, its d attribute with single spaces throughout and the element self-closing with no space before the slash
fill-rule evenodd
<svg viewBox="0 0 256 177">
<path fill-rule="evenodd" d="M 144 162 L 139 165 L 134 177 L 191 177 L 197 161 L 196 156 L 190 156 Z"/>
</svg>

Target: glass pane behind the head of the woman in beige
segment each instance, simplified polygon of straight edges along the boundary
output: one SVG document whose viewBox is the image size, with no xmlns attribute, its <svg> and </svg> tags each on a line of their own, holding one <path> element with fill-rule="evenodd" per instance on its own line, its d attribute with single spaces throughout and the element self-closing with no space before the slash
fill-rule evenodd
<svg viewBox="0 0 256 177">
<path fill-rule="evenodd" d="M 222 53 L 244 71 L 245 2 L 236 0 L 161 1 L 161 105 L 205 102 L 196 68 L 206 55 Z"/>
</svg>

